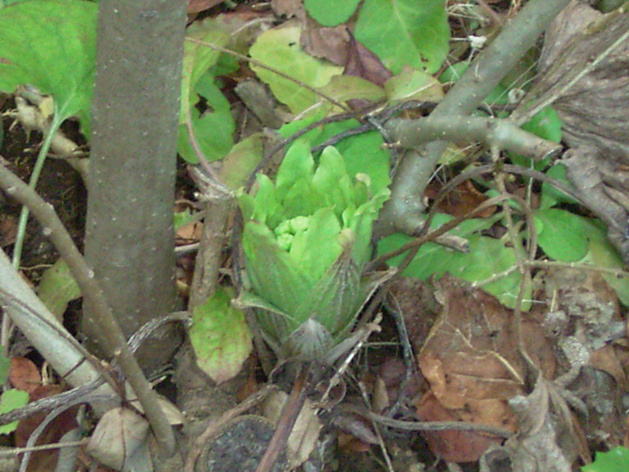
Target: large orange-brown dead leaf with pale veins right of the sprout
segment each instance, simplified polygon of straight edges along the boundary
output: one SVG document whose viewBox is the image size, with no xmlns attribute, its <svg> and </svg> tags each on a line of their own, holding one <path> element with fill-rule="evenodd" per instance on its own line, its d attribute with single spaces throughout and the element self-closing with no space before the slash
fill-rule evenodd
<svg viewBox="0 0 629 472">
<path fill-rule="evenodd" d="M 416 403 L 421 420 L 460 420 L 515 432 L 509 398 L 524 393 L 525 365 L 512 312 L 496 298 L 451 276 L 439 281 L 442 312 L 418 354 L 430 391 Z M 545 376 L 555 360 L 541 327 L 525 318 L 526 349 Z M 426 432 L 431 450 L 447 461 L 476 461 L 499 438 L 455 430 Z"/>
</svg>

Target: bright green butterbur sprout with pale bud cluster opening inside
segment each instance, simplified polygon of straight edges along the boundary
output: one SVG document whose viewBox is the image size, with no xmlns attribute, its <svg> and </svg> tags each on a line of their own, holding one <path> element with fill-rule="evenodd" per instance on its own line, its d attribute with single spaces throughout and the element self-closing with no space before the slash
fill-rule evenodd
<svg viewBox="0 0 629 472">
<path fill-rule="evenodd" d="M 330 362 L 362 306 L 388 276 L 362 275 L 372 225 L 389 189 L 350 177 L 334 147 L 315 162 L 306 140 L 286 153 L 275 182 L 257 176 L 255 194 L 238 197 L 243 213 L 247 284 L 236 303 L 252 307 L 279 357 Z"/>
</svg>

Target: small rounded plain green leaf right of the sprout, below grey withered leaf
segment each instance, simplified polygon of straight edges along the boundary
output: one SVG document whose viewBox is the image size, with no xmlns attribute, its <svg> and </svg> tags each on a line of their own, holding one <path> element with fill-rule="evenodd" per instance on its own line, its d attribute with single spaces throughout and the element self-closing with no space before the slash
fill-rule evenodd
<svg viewBox="0 0 629 472">
<path fill-rule="evenodd" d="M 574 262 L 582 259 L 589 247 L 583 235 L 583 218 L 559 208 L 535 211 L 537 242 L 546 255 L 555 261 Z M 537 220 L 542 222 L 538 225 Z"/>
</svg>

